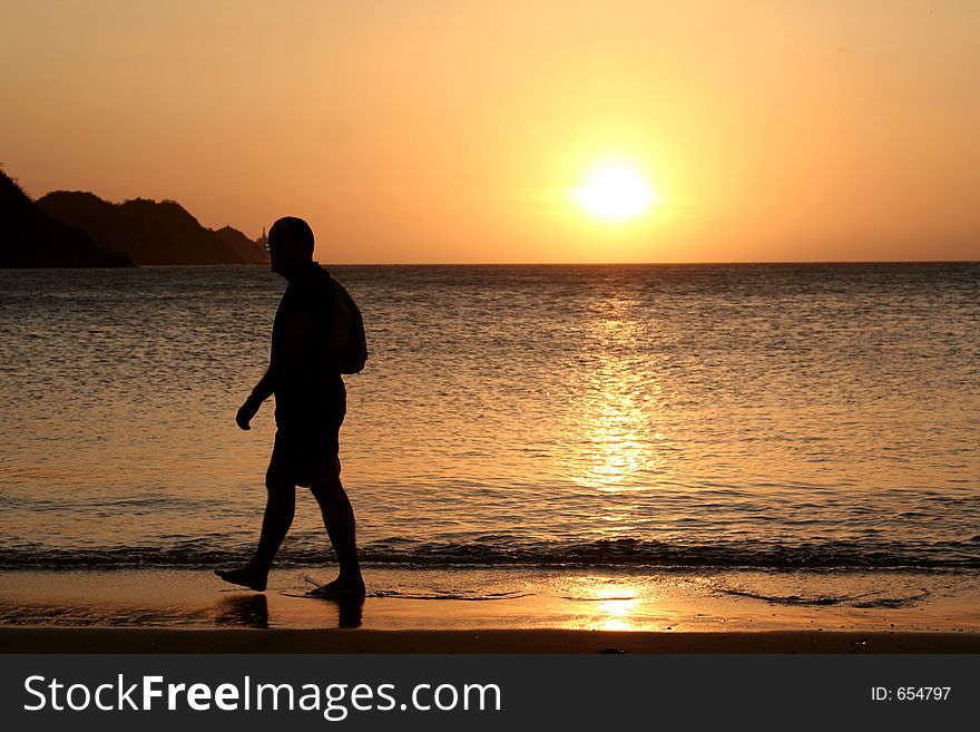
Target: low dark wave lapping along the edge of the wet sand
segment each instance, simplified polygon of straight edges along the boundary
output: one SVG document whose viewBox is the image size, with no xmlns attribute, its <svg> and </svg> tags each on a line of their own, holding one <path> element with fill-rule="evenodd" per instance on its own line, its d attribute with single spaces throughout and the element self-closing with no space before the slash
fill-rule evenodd
<svg viewBox="0 0 980 732">
<path fill-rule="evenodd" d="M 332 556 L 322 543 L 287 545 L 277 567 L 321 565 Z M 218 545 L 212 540 L 170 546 L 62 548 L 37 545 L 0 548 L 0 569 L 133 569 L 205 568 L 245 562 L 252 545 Z M 464 543 L 419 543 L 384 539 L 360 549 L 366 565 L 435 569 L 440 567 L 539 567 L 634 569 L 980 569 L 976 541 L 932 544 L 716 543 L 682 545 L 641 539 L 594 541 L 521 541 L 484 537 Z"/>
</svg>

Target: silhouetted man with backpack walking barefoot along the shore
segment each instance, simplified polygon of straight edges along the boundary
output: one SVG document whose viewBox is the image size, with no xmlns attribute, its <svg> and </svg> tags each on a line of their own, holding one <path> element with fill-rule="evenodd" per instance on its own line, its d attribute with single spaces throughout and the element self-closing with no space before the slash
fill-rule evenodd
<svg viewBox="0 0 980 732">
<path fill-rule="evenodd" d="M 339 432 L 346 411 L 341 372 L 360 370 L 366 350 L 360 341 L 337 348 L 337 323 L 350 326 L 360 313 L 346 292 L 313 261 L 313 232 L 302 218 L 286 217 L 268 232 L 272 271 L 288 281 L 272 332 L 272 352 L 265 375 L 242 404 L 235 420 L 243 430 L 258 408 L 275 394 L 275 447 L 265 476 L 267 499 L 255 556 L 243 567 L 217 569 L 222 579 L 256 591 L 266 587 L 268 569 L 290 525 L 296 486 L 308 487 L 320 504 L 323 523 L 340 564 L 340 576 L 311 591 L 322 597 L 363 597 L 364 580 L 357 564 L 354 511 L 340 478 Z M 344 311 L 345 318 L 337 312 Z M 340 334 L 340 340 L 345 341 Z M 359 341 L 359 342 L 357 342 Z M 353 350 L 354 363 L 344 368 Z"/>
</svg>

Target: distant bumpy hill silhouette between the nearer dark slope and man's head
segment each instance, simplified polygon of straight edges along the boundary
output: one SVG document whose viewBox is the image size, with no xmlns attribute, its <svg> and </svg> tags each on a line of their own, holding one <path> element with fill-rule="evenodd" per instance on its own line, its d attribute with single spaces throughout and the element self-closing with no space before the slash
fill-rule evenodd
<svg viewBox="0 0 980 732">
<path fill-rule="evenodd" d="M 121 204 L 91 193 L 56 191 L 38 207 L 84 230 L 99 245 L 125 252 L 136 264 L 266 264 L 268 254 L 242 232 L 202 226 L 178 203 L 136 198 Z"/>
</svg>

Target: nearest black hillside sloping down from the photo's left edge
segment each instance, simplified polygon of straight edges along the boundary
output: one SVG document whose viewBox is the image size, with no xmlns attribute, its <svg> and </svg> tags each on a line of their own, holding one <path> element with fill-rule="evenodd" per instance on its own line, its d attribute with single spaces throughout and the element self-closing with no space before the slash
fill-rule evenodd
<svg viewBox="0 0 980 732">
<path fill-rule="evenodd" d="M 0 267 L 133 266 L 84 231 L 48 216 L 0 170 Z"/>
</svg>

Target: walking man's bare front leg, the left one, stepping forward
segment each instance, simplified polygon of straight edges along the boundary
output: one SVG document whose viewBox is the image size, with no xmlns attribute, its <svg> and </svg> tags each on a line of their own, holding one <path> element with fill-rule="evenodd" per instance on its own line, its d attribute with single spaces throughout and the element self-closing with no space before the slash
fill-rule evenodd
<svg viewBox="0 0 980 732">
<path fill-rule="evenodd" d="M 282 457 L 274 449 L 265 474 L 265 516 L 262 519 L 262 535 L 252 562 L 236 569 L 215 569 L 215 574 L 235 585 L 263 592 L 268 580 L 268 569 L 276 552 L 293 524 L 296 513 L 296 486 L 282 469 Z"/>
</svg>

